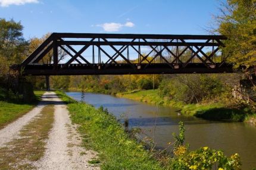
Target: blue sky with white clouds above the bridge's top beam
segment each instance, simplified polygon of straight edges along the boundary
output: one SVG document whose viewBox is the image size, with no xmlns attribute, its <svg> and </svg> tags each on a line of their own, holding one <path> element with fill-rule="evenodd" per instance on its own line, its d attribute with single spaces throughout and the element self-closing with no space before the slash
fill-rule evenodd
<svg viewBox="0 0 256 170">
<path fill-rule="evenodd" d="M 209 34 L 224 0 L 0 0 L 24 37 L 46 33 Z"/>
</svg>

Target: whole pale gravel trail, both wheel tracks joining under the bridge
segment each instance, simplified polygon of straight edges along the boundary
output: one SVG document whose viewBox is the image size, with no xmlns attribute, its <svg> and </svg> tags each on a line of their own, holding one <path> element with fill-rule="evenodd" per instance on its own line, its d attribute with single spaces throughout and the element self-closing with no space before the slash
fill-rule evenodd
<svg viewBox="0 0 256 170">
<path fill-rule="evenodd" d="M 18 118 L 4 129 L 0 130 L 0 147 L 13 139 L 18 139 L 20 130 L 40 114 L 47 104 L 54 104 L 54 125 L 46 141 L 46 151 L 37 162 L 31 162 L 37 169 L 99 169 L 88 161 L 96 158 L 92 150 L 81 147 L 82 139 L 77 133 L 77 127 L 71 124 L 67 105 L 57 97 L 54 92 L 46 92 L 39 105 L 32 111 Z M 1 169 L 1 167 L 0 167 Z"/>
</svg>

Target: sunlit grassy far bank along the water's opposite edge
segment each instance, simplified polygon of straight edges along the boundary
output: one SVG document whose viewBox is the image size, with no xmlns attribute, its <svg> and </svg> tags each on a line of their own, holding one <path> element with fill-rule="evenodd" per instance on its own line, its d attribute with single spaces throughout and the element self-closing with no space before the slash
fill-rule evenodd
<svg viewBox="0 0 256 170">
<path fill-rule="evenodd" d="M 189 116 L 205 118 L 207 120 L 232 120 L 256 123 L 256 114 L 247 107 L 229 107 L 225 102 L 202 102 L 200 104 L 184 104 L 170 101 L 158 95 L 158 89 L 145 91 L 131 91 L 116 94 L 118 97 L 148 102 L 149 104 L 166 105 L 180 108 L 180 112 Z"/>
</svg>

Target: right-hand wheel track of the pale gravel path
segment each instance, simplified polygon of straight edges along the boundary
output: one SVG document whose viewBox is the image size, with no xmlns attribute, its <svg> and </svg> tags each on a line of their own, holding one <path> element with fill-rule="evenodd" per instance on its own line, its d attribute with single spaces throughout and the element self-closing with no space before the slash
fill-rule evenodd
<svg viewBox="0 0 256 170">
<path fill-rule="evenodd" d="M 55 95 L 54 126 L 49 133 L 46 152 L 42 159 L 35 162 L 38 169 L 99 169 L 88 161 L 96 153 L 81 147 L 81 138 L 76 127 L 71 124 L 66 105 Z"/>
</svg>

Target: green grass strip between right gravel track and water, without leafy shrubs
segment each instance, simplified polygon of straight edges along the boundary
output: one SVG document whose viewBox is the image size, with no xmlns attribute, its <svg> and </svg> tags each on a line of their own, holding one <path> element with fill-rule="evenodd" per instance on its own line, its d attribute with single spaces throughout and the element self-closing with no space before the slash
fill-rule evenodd
<svg viewBox="0 0 256 170">
<path fill-rule="evenodd" d="M 97 163 L 100 162 L 101 169 L 164 169 L 107 111 L 81 102 L 73 103 L 60 91 L 57 94 L 67 102 L 72 122 L 80 124 L 83 146 L 99 153 Z"/>
</svg>

